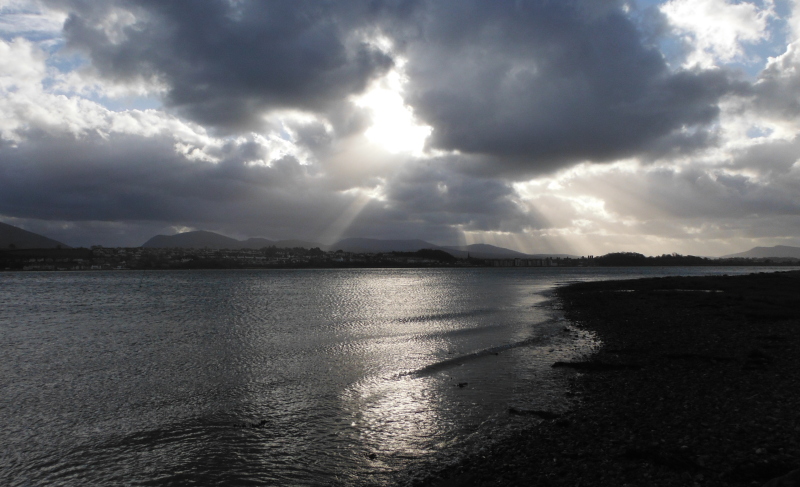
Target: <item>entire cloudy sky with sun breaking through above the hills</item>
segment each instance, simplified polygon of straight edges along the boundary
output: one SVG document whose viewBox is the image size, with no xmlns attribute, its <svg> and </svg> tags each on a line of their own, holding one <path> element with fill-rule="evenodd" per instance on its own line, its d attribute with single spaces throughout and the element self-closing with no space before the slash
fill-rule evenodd
<svg viewBox="0 0 800 487">
<path fill-rule="evenodd" d="M 0 221 L 800 246 L 800 0 L 0 0 Z"/>
</svg>

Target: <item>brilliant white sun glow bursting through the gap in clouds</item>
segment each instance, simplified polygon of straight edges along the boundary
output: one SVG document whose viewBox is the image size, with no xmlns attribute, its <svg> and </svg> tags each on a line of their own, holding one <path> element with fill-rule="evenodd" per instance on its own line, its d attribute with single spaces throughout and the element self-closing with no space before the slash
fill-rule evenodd
<svg viewBox="0 0 800 487">
<path fill-rule="evenodd" d="M 421 125 L 403 99 L 406 79 L 401 70 L 402 64 L 354 98 L 353 103 L 371 112 L 372 125 L 364 132 L 370 142 L 393 154 L 420 154 L 433 128 Z"/>
</svg>

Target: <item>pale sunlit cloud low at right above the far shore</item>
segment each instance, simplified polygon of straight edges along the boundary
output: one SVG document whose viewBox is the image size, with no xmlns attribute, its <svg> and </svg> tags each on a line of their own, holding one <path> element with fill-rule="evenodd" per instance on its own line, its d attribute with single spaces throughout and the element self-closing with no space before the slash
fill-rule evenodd
<svg viewBox="0 0 800 487">
<path fill-rule="evenodd" d="M 791 151 L 795 160 L 800 157 L 796 143 Z M 792 226 L 800 215 L 800 166 L 786 168 L 788 152 L 784 142 L 742 151 L 734 166 L 745 169 L 584 165 L 519 190 L 549 217 L 545 230 L 570 235 L 585 252 L 608 252 L 609 244 L 633 250 L 646 235 L 652 253 L 713 255 L 711 248 L 755 237 L 755 228 L 764 238 L 782 237 L 791 245 L 800 237 Z M 779 170 L 752 163 L 771 155 Z"/>
</svg>

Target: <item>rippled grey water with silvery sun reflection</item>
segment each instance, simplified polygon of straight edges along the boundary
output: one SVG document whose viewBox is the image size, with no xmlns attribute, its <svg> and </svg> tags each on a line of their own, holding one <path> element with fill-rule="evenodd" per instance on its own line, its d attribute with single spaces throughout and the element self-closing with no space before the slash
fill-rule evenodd
<svg viewBox="0 0 800 487">
<path fill-rule="evenodd" d="M 408 483 L 569 407 L 556 286 L 785 269 L 0 273 L 0 484 Z"/>
</svg>

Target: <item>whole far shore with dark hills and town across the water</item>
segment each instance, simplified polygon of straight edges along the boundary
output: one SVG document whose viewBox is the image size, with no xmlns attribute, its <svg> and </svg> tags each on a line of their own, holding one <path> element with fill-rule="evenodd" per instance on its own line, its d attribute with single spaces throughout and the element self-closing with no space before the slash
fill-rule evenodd
<svg viewBox="0 0 800 487">
<path fill-rule="evenodd" d="M 355 267 L 797 266 L 800 247 L 756 247 L 722 258 L 634 252 L 602 256 L 524 254 L 488 244 L 441 247 L 424 240 L 346 238 L 323 246 L 301 240 L 236 240 L 203 230 L 157 235 L 141 247 L 71 248 L 0 223 L 0 270 L 302 269 Z"/>
</svg>

